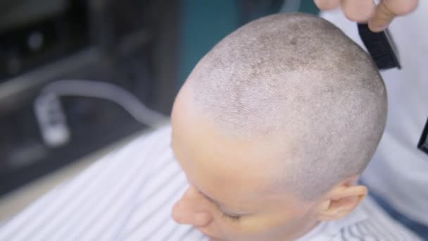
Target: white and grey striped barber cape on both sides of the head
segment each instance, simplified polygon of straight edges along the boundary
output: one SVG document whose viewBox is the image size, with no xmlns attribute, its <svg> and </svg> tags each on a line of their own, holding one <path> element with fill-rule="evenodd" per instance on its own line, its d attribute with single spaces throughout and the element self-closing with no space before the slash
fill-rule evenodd
<svg viewBox="0 0 428 241">
<path fill-rule="evenodd" d="M 208 240 L 170 216 L 186 188 L 165 127 L 100 159 L 1 224 L 0 240 Z M 299 240 L 417 238 L 366 200 L 350 216 L 322 223 Z"/>
</svg>

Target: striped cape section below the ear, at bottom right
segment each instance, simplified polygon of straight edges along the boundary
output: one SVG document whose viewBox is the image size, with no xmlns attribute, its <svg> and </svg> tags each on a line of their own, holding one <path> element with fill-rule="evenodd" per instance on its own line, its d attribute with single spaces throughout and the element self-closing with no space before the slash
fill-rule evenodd
<svg viewBox="0 0 428 241">
<path fill-rule="evenodd" d="M 335 235 L 334 241 L 339 240 L 421 240 L 410 230 L 391 218 L 370 197 L 366 198 L 358 207 L 358 212 L 364 213 L 366 218 L 351 225 L 345 225 Z"/>
</svg>

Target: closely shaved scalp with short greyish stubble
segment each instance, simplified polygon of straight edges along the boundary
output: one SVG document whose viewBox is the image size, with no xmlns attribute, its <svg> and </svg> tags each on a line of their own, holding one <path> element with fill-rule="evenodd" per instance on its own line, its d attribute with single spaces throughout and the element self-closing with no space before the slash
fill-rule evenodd
<svg viewBox="0 0 428 241">
<path fill-rule="evenodd" d="M 386 90 L 370 56 L 332 23 L 303 13 L 232 32 L 184 88 L 228 135 L 284 142 L 292 158 L 267 164 L 280 165 L 276 183 L 306 199 L 361 173 L 386 121 Z"/>
</svg>

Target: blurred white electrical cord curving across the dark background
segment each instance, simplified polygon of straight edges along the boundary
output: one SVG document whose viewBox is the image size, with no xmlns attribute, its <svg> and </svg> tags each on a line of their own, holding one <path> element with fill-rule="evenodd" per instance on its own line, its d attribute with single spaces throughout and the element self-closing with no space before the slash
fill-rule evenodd
<svg viewBox="0 0 428 241">
<path fill-rule="evenodd" d="M 57 147 L 68 142 L 70 130 L 59 104 L 61 96 L 107 99 L 122 106 L 139 123 L 159 128 L 168 117 L 147 108 L 134 94 L 107 82 L 92 80 L 58 80 L 46 85 L 34 101 L 34 111 L 46 144 Z"/>
</svg>

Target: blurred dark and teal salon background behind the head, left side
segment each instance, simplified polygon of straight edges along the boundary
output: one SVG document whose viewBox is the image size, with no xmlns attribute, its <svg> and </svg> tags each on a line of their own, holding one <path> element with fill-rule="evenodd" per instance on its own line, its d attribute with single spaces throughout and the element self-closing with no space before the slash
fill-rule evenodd
<svg viewBox="0 0 428 241">
<path fill-rule="evenodd" d="M 279 11 L 317 8 L 298 0 L 0 0 L 0 221 L 168 118 L 215 43 Z"/>
</svg>

